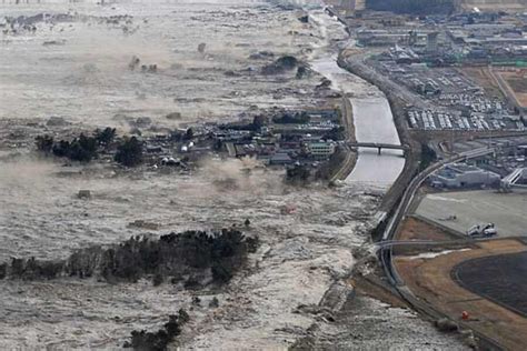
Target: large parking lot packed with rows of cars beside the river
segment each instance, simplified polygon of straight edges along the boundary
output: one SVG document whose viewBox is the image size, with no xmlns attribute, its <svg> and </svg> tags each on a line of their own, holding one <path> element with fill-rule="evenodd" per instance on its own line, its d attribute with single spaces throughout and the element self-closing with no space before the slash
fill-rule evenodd
<svg viewBox="0 0 527 351">
<path fill-rule="evenodd" d="M 410 108 L 408 126 L 420 130 L 525 130 L 518 114 L 501 98 L 453 68 L 382 61 L 377 68 L 409 91 L 430 102 L 429 109 Z"/>
</svg>

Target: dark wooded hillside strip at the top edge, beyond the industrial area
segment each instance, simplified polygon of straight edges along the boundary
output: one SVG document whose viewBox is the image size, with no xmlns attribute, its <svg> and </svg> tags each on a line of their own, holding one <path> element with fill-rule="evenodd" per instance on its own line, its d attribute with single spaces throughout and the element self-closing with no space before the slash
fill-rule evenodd
<svg viewBox="0 0 527 351">
<path fill-rule="evenodd" d="M 455 10 L 454 0 L 366 0 L 366 8 L 412 14 L 450 13 Z"/>
</svg>

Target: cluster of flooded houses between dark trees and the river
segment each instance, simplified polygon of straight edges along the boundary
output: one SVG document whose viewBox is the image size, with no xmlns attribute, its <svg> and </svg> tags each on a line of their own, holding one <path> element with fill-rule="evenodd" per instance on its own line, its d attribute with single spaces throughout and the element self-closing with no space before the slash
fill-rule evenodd
<svg viewBox="0 0 527 351">
<path fill-rule="evenodd" d="M 317 168 L 329 160 L 342 139 L 337 109 L 278 111 L 270 118 L 259 116 L 226 124 L 207 122 L 148 138 L 145 151 L 152 163 L 160 166 L 177 166 L 178 160 L 213 150 L 232 158 L 255 158 L 266 166 Z"/>
</svg>

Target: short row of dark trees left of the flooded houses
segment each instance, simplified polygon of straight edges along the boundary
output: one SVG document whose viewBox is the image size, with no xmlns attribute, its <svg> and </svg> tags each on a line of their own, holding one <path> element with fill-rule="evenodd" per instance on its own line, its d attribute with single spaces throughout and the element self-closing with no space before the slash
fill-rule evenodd
<svg viewBox="0 0 527 351">
<path fill-rule="evenodd" d="M 71 161 L 90 162 L 98 158 L 99 152 L 109 151 L 116 147 L 115 160 L 126 167 L 135 167 L 142 161 L 142 142 L 136 137 L 126 138 L 115 144 L 116 129 L 96 129 L 92 136 L 81 133 L 73 140 L 56 141 L 50 136 L 36 138 L 37 149 L 46 154 L 67 158 Z"/>
</svg>

